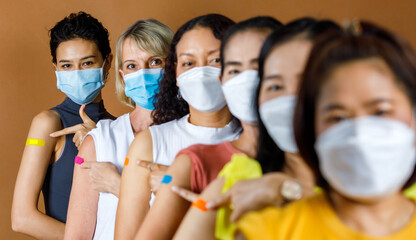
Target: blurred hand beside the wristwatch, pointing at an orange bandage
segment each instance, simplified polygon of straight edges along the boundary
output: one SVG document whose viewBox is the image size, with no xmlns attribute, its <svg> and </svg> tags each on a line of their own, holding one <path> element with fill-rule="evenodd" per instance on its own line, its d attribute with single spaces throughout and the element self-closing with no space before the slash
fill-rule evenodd
<svg viewBox="0 0 416 240">
<path fill-rule="evenodd" d="M 280 186 L 286 179 L 292 178 L 283 173 L 271 173 L 257 179 L 238 181 L 224 195 L 207 203 L 207 208 L 215 209 L 231 204 L 231 221 L 235 222 L 249 211 L 280 206 L 283 203 Z"/>
</svg>

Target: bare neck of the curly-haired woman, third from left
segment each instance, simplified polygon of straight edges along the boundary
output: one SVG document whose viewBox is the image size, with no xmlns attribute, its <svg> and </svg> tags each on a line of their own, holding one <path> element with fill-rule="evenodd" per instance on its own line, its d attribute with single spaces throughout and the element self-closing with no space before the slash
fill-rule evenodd
<svg viewBox="0 0 416 240">
<path fill-rule="evenodd" d="M 228 107 L 225 106 L 221 110 L 213 113 L 204 113 L 196 110 L 195 108 L 189 106 L 189 122 L 193 125 L 201 127 L 212 127 L 212 128 L 223 128 L 231 120 L 233 116 L 231 115 Z"/>
</svg>

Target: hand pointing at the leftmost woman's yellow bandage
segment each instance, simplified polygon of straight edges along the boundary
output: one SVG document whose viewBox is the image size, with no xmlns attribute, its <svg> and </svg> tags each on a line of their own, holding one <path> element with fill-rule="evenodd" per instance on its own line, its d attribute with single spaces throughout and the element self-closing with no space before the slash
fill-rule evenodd
<svg viewBox="0 0 416 240">
<path fill-rule="evenodd" d="M 81 107 L 79 108 L 79 116 L 81 117 L 83 123 L 77 124 L 72 127 L 64 128 L 57 132 L 53 132 L 49 136 L 60 137 L 63 135 L 75 133 L 74 138 L 72 138 L 72 141 L 75 143 L 75 146 L 79 148 L 79 146 L 81 146 L 82 141 L 84 140 L 84 137 L 87 135 L 87 133 L 97 127 L 96 123 L 93 120 L 91 120 L 91 118 L 88 117 L 84 109 L 85 109 L 85 104 L 81 105 Z"/>
</svg>

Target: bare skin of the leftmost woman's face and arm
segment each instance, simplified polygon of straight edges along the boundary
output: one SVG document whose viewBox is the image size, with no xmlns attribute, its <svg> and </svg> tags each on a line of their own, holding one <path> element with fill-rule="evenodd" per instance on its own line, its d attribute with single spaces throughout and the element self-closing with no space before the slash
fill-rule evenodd
<svg viewBox="0 0 416 240">
<path fill-rule="evenodd" d="M 103 58 L 97 45 L 88 40 L 72 39 L 59 44 L 56 49 L 58 71 L 71 71 L 99 68 Z M 104 66 L 110 68 L 111 56 Z M 99 102 L 101 94 L 93 102 Z M 23 152 L 19 173 L 16 179 L 12 204 L 12 228 L 40 239 L 62 239 L 65 224 L 38 210 L 38 199 L 49 164 L 59 161 L 65 137 L 52 138 L 51 132 L 63 128 L 61 119 L 55 111 L 45 110 L 35 116 L 27 138 L 42 139 L 45 146 L 26 146 Z"/>
</svg>

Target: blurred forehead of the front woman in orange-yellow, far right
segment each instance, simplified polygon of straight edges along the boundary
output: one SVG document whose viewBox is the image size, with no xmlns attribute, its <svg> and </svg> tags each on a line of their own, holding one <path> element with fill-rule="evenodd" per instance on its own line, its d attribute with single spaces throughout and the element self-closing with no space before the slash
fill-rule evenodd
<svg viewBox="0 0 416 240">
<path fill-rule="evenodd" d="M 336 67 L 324 81 L 319 101 L 346 103 L 406 96 L 389 66 L 380 58 L 357 60 Z"/>
</svg>

